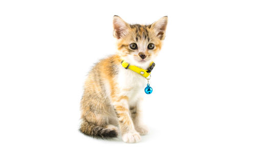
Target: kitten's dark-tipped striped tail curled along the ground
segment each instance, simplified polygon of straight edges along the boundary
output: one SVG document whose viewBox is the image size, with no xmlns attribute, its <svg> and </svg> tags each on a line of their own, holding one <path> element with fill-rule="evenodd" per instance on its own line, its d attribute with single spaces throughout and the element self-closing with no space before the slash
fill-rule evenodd
<svg viewBox="0 0 256 159">
<path fill-rule="evenodd" d="M 88 121 L 83 120 L 79 131 L 87 136 L 101 139 L 117 138 L 118 132 L 116 129 L 110 129 L 106 127 L 96 126 Z"/>
</svg>

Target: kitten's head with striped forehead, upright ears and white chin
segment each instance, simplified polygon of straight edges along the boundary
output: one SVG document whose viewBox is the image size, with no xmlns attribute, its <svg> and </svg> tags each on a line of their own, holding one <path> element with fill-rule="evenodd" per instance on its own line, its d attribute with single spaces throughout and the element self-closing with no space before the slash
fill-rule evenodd
<svg viewBox="0 0 256 159">
<path fill-rule="evenodd" d="M 131 25 L 115 15 L 114 37 L 120 57 L 132 65 L 148 66 L 162 47 L 167 19 L 164 16 L 150 25 Z"/>
</svg>

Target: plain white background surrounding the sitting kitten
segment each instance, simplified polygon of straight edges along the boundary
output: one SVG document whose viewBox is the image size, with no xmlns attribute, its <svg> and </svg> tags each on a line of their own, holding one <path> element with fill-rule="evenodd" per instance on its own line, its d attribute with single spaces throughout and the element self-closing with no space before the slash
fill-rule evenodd
<svg viewBox="0 0 256 159">
<path fill-rule="evenodd" d="M 256 158 L 253 1 L 1 1 L 0 158 Z M 166 38 L 140 143 L 78 132 L 87 72 L 114 54 L 112 18 Z"/>
</svg>

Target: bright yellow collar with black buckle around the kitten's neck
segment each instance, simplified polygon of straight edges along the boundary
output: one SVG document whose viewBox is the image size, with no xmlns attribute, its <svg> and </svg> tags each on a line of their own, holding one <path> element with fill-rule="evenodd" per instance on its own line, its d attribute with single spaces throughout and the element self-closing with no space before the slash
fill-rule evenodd
<svg viewBox="0 0 256 159">
<path fill-rule="evenodd" d="M 129 63 L 125 62 L 124 60 L 121 61 L 121 65 L 125 68 L 125 69 L 130 69 L 133 70 L 134 72 L 144 76 L 145 78 L 148 77 L 151 73 L 151 71 L 153 70 L 153 68 L 155 67 L 155 63 L 151 62 L 150 67 L 147 68 L 147 70 L 144 70 L 142 68 L 139 68 L 137 66 L 134 65 L 130 65 Z"/>
</svg>

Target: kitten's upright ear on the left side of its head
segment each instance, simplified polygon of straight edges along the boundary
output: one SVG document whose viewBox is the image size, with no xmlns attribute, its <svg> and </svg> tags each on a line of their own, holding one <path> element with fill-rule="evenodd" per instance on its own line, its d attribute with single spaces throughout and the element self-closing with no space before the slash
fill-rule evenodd
<svg viewBox="0 0 256 159">
<path fill-rule="evenodd" d="M 115 38 L 120 39 L 121 37 L 125 36 L 130 28 L 130 25 L 126 23 L 122 18 L 115 15 L 113 18 L 113 28 L 114 32 L 113 35 Z"/>
</svg>

